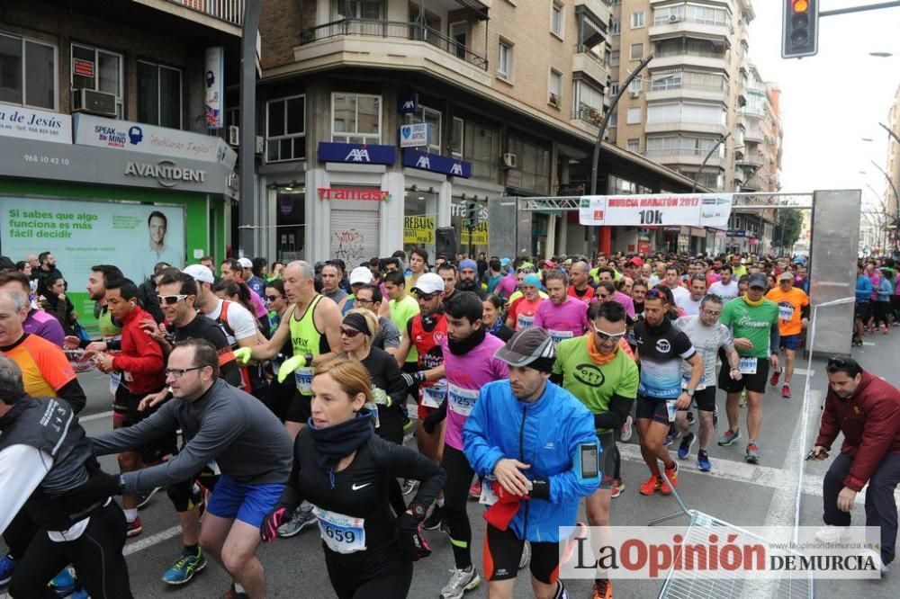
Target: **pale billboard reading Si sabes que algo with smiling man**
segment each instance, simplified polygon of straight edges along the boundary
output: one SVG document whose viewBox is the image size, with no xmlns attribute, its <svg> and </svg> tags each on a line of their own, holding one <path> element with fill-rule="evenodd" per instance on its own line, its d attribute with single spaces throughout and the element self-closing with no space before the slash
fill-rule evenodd
<svg viewBox="0 0 900 599">
<path fill-rule="evenodd" d="M 165 219 L 150 219 L 154 211 Z M 115 264 L 140 284 L 157 262 L 184 267 L 184 209 L 0 197 L 0 241 L 14 260 L 51 252 L 72 289 L 84 286 L 94 264 Z"/>
</svg>

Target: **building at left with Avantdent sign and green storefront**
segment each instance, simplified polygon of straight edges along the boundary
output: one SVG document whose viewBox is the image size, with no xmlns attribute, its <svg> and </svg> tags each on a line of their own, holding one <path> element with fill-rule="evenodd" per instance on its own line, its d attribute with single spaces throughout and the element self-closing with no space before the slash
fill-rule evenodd
<svg viewBox="0 0 900 599">
<path fill-rule="evenodd" d="M 92 264 L 142 282 L 162 256 L 225 255 L 237 156 L 207 127 L 221 107 L 212 92 L 237 82 L 241 11 L 238 0 L 0 4 L 0 211 L 16 215 L 0 243 L 14 260 L 51 251 L 83 323 L 93 302 L 76 290 Z"/>
</svg>

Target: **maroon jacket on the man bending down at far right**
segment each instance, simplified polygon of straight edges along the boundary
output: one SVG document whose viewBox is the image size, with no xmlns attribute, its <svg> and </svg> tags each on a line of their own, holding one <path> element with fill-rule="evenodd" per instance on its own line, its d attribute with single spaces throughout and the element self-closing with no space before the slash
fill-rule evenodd
<svg viewBox="0 0 900 599">
<path fill-rule="evenodd" d="M 861 491 L 886 453 L 900 453 L 900 390 L 869 372 L 851 398 L 828 389 L 815 444 L 830 449 L 843 433 L 842 453 L 853 457 L 844 486 Z"/>
</svg>

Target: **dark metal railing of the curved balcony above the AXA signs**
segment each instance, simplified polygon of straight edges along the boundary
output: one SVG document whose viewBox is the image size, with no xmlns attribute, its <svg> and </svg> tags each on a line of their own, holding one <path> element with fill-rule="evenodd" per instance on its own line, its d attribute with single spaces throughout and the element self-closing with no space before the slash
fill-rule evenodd
<svg viewBox="0 0 900 599">
<path fill-rule="evenodd" d="M 440 31 L 432 29 L 428 25 L 423 25 L 421 22 L 341 19 L 340 21 L 327 22 L 310 29 L 304 29 L 300 32 L 300 43 L 310 44 L 314 41 L 329 40 L 345 35 L 426 41 L 435 48 L 442 49 L 475 67 L 485 71 L 488 70 L 487 58 L 467 49 L 464 45 L 451 40 Z"/>
</svg>

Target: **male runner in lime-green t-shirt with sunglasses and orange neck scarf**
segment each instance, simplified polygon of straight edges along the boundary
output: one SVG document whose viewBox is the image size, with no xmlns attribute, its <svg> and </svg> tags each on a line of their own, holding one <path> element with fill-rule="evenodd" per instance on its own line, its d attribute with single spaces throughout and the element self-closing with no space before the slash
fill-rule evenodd
<svg viewBox="0 0 900 599">
<path fill-rule="evenodd" d="M 626 334 L 625 308 L 610 301 L 596 311 L 587 335 L 565 339 L 556 346 L 551 380 L 578 398 L 594 416 L 603 450 L 603 475 L 599 489 L 585 498 L 584 506 L 590 526 L 608 526 L 618 451 L 615 431 L 631 413 L 639 376 L 634 359 L 619 346 Z M 612 595 L 609 580 L 597 577 L 593 596 L 611 599 Z"/>
</svg>

